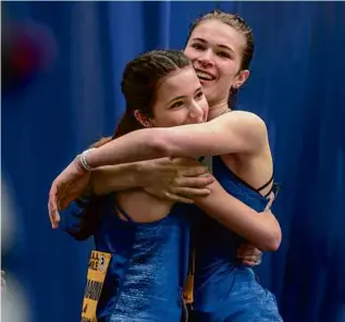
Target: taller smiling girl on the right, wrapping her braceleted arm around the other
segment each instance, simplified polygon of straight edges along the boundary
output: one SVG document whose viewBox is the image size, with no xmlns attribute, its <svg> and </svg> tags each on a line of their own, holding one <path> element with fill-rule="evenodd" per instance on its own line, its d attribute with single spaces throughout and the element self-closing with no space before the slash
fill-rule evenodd
<svg viewBox="0 0 345 322">
<path fill-rule="evenodd" d="M 125 135 L 83 153 L 52 188 L 81 181 L 85 170 L 103 165 L 162 157 L 213 156 L 213 174 L 222 186 L 214 182 L 210 196 L 196 199 L 197 206 L 215 221 L 205 220 L 202 238 L 196 247 L 193 321 L 282 321 L 274 296 L 236 258 L 243 238 L 267 251 L 276 250 L 282 238 L 278 221 L 266 211 L 268 197 L 275 187 L 266 124 L 252 113 L 233 111 L 236 89 L 249 76 L 254 52 L 251 28 L 237 15 L 221 11 L 208 13 L 193 24 L 184 52 L 192 60 L 211 106 L 208 115 L 211 121 L 180 122 L 175 125 L 190 125 L 145 128 Z M 190 82 L 192 78 L 187 83 L 181 78 L 175 86 L 180 85 L 183 91 Z M 163 85 L 164 82 L 159 89 Z M 176 103 L 170 107 L 172 111 L 184 107 L 178 100 Z M 192 112 L 194 123 L 201 123 L 202 116 L 197 112 Z M 159 117 L 158 113 L 153 116 Z M 248 208 L 232 200 L 223 188 Z M 258 212 L 261 214 L 257 215 Z"/>
</svg>

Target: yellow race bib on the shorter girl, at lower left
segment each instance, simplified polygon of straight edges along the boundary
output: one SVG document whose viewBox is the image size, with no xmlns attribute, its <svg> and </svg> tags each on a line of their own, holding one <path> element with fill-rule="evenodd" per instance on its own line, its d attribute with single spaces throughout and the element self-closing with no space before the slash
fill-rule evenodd
<svg viewBox="0 0 345 322">
<path fill-rule="evenodd" d="M 96 250 L 91 252 L 83 300 L 82 322 L 97 322 L 97 304 L 102 292 L 110 259 L 111 253 Z"/>
</svg>

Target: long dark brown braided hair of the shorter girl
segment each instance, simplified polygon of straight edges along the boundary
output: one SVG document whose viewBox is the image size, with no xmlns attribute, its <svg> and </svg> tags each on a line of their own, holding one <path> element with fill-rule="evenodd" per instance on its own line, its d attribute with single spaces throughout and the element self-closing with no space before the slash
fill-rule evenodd
<svg viewBox="0 0 345 322">
<path fill-rule="evenodd" d="M 153 50 L 131 61 L 124 70 L 121 83 L 126 101 L 125 113 L 113 136 L 102 137 L 91 147 L 99 148 L 112 139 L 143 128 L 143 124 L 135 117 L 135 111 L 152 117 L 158 83 L 170 73 L 187 66 L 192 66 L 190 61 L 182 51 L 177 50 Z M 76 200 L 83 208 L 83 213 L 73 214 L 78 218 L 79 225 L 69 228 L 67 233 L 77 240 L 91 236 L 99 226 L 106 199 L 107 196 L 91 196 L 86 200 L 83 198 Z"/>
</svg>

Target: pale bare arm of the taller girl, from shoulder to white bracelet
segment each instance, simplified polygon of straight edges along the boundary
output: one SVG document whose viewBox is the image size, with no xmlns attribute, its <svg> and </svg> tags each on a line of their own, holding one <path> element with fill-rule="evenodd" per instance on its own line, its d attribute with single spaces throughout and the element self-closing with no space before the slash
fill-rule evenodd
<svg viewBox="0 0 345 322">
<path fill-rule="evenodd" d="M 91 150 L 91 168 L 163 157 L 220 156 L 255 152 L 267 143 L 261 119 L 248 112 L 231 112 L 202 124 L 145 128 Z"/>
</svg>

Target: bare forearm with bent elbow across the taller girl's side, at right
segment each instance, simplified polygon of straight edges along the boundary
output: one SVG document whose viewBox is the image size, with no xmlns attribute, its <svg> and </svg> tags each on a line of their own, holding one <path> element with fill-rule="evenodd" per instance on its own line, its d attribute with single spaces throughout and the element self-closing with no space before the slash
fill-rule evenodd
<svg viewBox="0 0 345 322">
<path fill-rule="evenodd" d="M 275 251 L 282 239 L 276 219 L 270 211 L 258 213 L 229 195 L 218 182 L 209 186 L 211 194 L 195 200 L 208 215 L 229 227 L 262 251 Z"/>
</svg>

